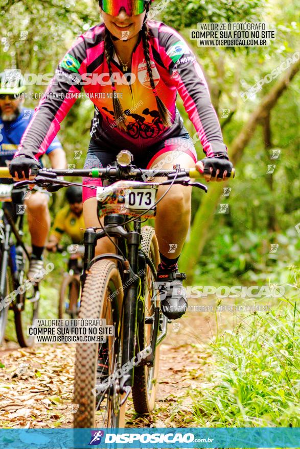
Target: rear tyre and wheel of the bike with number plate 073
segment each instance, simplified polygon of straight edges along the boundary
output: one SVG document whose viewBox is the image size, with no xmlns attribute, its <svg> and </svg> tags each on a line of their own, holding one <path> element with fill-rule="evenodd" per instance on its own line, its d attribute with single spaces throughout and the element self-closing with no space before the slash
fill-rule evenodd
<svg viewBox="0 0 300 449">
<path fill-rule="evenodd" d="M 159 263 L 158 243 L 155 231 L 150 226 L 142 228 L 142 250 L 153 262 L 156 270 Z M 150 345 L 154 323 L 146 323 L 147 317 L 154 318 L 154 308 L 159 306 L 158 296 L 153 301 L 155 292 L 155 279 L 149 265 L 146 265 L 145 284 L 142 286 L 142 297 L 145 298 L 144 316 L 138 322 L 138 349 L 142 351 Z M 134 409 L 137 413 L 150 413 L 155 406 L 157 376 L 159 368 L 159 345 L 156 346 L 155 359 L 152 367 L 137 365 L 134 367 L 134 380 L 132 387 L 132 398 Z"/>
</svg>

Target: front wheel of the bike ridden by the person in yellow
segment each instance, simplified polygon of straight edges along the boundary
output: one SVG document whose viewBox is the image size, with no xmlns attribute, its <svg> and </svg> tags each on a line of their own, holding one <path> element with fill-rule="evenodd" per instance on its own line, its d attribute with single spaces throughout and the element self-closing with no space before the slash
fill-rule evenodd
<svg viewBox="0 0 300 449">
<path fill-rule="evenodd" d="M 64 276 L 59 292 L 58 318 L 77 318 L 79 313 L 79 275 Z"/>
</svg>

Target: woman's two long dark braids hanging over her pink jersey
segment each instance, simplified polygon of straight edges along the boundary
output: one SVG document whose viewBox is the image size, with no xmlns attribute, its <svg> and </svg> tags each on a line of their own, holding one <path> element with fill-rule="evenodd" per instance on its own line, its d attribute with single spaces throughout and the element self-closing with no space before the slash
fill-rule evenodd
<svg viewBox="0 0 300 449">
<path fill-rule="evenodd" d="M 161 121 L 163 122 L 164 127 L 170 127 L 172 124 L 171 123 L 171 114 L 170 114 L 169 110 L 166 108 L 166 106 L 164 105 L 164 103 L 159 98 L 159 96 L 156 92 L 156 88 L 155 88 L 155 84 L 154 84 L 154 80 L 153 80 L 151 61 L 150 61 L 150 52 L 149 52 L 148 26 L 147 26 L 146 21 L 144 21 L 144 23 L 143 23 L 141 32 L 142 32 L 142 40 L 143 40 L 143 47 L 144 47 L 144 56 L 145 56 L 145 61 L 147 64 L 147 71 L 148 71 L 148 75 L 149 75 L 149 79 L 150 79 L 150 85 L 152 88 L 152 92 L 155 95 L 157 110 L 159 112 L 159 116 L 160 116 Z M 109 70 L 109 77 L 111 79 L 111 88 L 113 90 L 113 95 L 112 95 L 113 112 L 114 112 L 115 120 L 118 123 L 118 128 L 121 131 L 126 132 L 127 124 L 128 124 L 126 122 L 126 116 L 125 116 L 126 113 L 124 113 L 124 111 L 123 111 L 123 108 L 121 106 L 119 98 L 117 97 L 117 95 L 114 94 L 114 92 L 116 91 L 116 85 L 111 78 L 112 77 L 111 60 L 113 58 L 113 51 L 114 51 L 114 47 L 113 47 L 113 43 L 112 43 L 112 40 L 110 37 L 110 33 L 107 30 L 107 28 L 105 27 L 104 52 L 105 52 L 106 63 L 107 63 L 108 70 Z"/>
</svg>

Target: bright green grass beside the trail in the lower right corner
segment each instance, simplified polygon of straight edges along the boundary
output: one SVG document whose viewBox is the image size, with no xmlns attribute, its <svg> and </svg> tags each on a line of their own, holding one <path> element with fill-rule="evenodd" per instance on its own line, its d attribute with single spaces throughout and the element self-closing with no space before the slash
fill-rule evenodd
<svg viewBox="0 0 300 449">
<path fill-rule="evenodd" d="M 282 301 L 214 339 L 207 348 L 213 386 L 190 393 L 195 425 L 299 427 L 299 331 L 296 302 Z"/>
</svg>

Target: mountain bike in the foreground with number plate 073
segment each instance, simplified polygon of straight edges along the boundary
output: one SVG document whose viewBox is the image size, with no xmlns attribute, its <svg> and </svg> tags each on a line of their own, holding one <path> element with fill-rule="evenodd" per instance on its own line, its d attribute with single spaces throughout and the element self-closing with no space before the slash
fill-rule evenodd
<svg viewBox="0 0 300 449">
<path fill-rule="evenodd" d="M 79 319 L 101 318 L 113 329 L 101 343 L 77 343 L 75 361 L 75 428 L 125 427 L 126 400 L 132 393 L 137 413 L 151 413 L 155 405 L 159 344 L 167 335 L 168 318 L 161 313 L 156 270 L 159 263 L 154 229 L 142 227 L 154 217 L 159 185 L 207 187 L 196 169 L 144 170 L 131 164 L 132 155 L 121 151 L 106 168 L 37 170 L 34 181 L 18 185 L 77 185 L 57 176 L 99 178 L 109 183 L 97 188 L 99 227 L 84 233 L 82 294 Z M 143 181 L 166 176 L 162 182 Z M 228 177 L 234 175 L 228 173 Z M 2 169 L 0 169 L 2 176 Z M 96 187 L 95 187 L 96 188 Z M 128 218 L 129 216 L 129 218 Z M 104 225 L 100 219 L 104 217 Z M 95 257 L 97 241 L 108 237 L 115 253 Z"/>
</svg>

